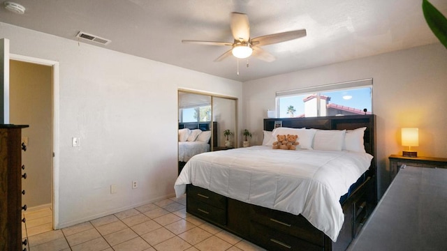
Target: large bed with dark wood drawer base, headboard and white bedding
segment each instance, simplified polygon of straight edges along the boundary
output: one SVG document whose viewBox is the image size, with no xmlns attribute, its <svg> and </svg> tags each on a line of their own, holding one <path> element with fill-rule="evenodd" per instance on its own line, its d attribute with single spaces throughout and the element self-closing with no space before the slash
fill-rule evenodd
<svg viewBox="0 0 447 251">
<path fill-rule="evenodd" d="M 177 196 L 186 192 L 192 215 L 268 250 L 345 250 L 376 204 L 374 115 L 265 119 L 264 133 L 277 121 L 286 127 L 278 131 L 314 128 L 291 129 L 303 149 L 196 155 L 177 178 Z M 341 143 L 327 135 L 345 143 L 359 131 L 363 152 L 351 143 L 332 149 Z"/>
</svg>

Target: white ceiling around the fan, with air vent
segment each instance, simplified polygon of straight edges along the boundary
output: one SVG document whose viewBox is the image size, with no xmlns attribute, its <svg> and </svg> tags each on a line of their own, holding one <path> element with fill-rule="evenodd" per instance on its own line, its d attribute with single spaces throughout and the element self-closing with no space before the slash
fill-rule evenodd
<svg viewBox="0 0 447 251">
<path fill-rule="evenodd" d="M 112 40 L 109 50 L 237 81 L 247 81 L 374 54 L 439 43 L 423 17 L 421 0 L 17 0 L 24 15 L 1 1 L 0 22 L 78 40 L 79 31 Z M 447 13 L 446 0 L 431 0 Z M 264 50 L 272 63 L 231 56 L 228 47 L 187 40 L 233 42 L 230 13 L 247 13 L 251 37 L 297 29 L 307 36 Z M 1 30 L 0 30 L 1 37 Z"/>
</svg>

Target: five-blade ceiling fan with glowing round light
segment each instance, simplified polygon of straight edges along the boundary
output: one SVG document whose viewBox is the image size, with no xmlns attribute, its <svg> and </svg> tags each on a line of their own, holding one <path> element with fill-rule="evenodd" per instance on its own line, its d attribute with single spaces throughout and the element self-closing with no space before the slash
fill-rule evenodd
<svg viewBox="0 0 447 251">
<path fill-rule="evenodd" d="M 272 62 L 275 60 L 274 56 L 269 52 L 262 50 L 261 46 L 272 45 L 274 43 L 281 43 L 306 36 L 306 30 L 300 29 L 296 31 L 286 31 L 282 33 L 258 36 L 257 38 L 250 38 L 249 17 L 244 13 L 231 13 L 230 29 L 234 38 L 233 43 L 202 40 L 182 40 L 182 43 L 232 47 L 214 61 L 222 61 L 226 57 L 233 54 L 233 56 L 237 57 L 237 59 L 246 59 L 247 57 L 253 55 L 257 59 Z"/>
</svg>

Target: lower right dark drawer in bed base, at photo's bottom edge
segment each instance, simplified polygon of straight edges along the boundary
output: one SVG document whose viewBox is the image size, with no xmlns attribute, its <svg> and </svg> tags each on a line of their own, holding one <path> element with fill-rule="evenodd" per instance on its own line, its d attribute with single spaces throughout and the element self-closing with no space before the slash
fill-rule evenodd
<svg viewBox="0 0 447 251">
<path fill-rule="evenodd" d="M 319 245 L 265 227 L 258 222 L 251 222 L 250 235 L 258 241 L 259 245 L 268 250 L 324 250 Z"/>
</svg>

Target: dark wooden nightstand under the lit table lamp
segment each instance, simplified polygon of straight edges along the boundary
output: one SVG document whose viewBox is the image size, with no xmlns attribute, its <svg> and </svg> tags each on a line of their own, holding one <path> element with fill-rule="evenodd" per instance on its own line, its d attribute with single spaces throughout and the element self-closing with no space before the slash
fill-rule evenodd
<svg viewBox="0 0 447 251">
<path fill-rule="evenodd" d="M 447 168 L 447 158 L 432 157 L 404 157 L 402 155 L 390 155 L 390 181 L 393 181 L 402 165 L 413 167 Z"/>
</svg>

